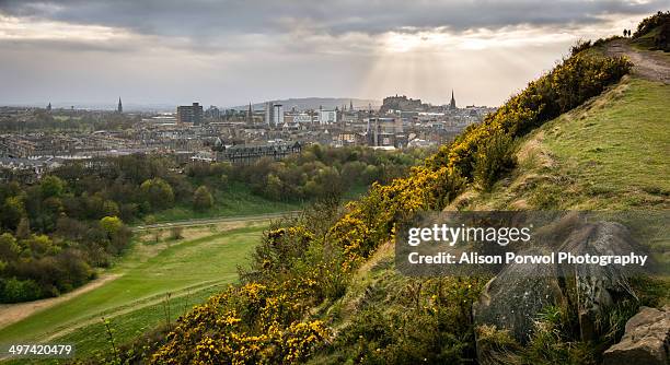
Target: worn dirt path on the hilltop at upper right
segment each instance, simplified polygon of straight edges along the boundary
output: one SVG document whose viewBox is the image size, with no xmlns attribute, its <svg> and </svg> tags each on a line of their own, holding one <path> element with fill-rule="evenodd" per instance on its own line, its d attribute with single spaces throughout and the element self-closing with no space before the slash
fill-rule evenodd
<svg viewBox="0 0 670 365">
<path fill-rule="evenodd" d="M 613 40 L 605 49 L 608 56 L 627 56 L 635 64 L 633 73 L 643 79 L 670 84 L 670 64 L 662 55 L 652 51 L 636 50 L 626 39 Z"/>
</svg>

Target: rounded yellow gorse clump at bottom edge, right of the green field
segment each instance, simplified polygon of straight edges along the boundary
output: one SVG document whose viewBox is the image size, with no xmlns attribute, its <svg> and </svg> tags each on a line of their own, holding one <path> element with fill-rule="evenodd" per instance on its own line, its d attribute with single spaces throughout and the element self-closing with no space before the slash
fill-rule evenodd
<svg viewBox="0 0 670 365">
<path fill-rule="evenodd" d="M 290 286 L 290 285 L 289 285 Z M 285 287 L 230 286 L 180 318 L 153 364 L 292 364 L 328 335 Z"/>
</svg>

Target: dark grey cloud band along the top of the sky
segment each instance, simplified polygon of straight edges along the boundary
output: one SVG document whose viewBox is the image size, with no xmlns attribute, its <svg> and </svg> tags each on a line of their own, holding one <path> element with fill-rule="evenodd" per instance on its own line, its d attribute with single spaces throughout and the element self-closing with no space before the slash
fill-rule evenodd
<svg viewBox="0 0 670 365">
<path fill-rule="evenodd" d="M 601 22 L 601 16 L 607 14 L 644 14 L 667 5 L 667 0 L 4 0 L 0 1 L 0 11 L 16 16 L 106 25 L 207 42 L 231 34 L 290 33 L 297 28 L 338 35 L 435 27 L 459 32 L 519 24 L 588 24 Z"/>
</svg>

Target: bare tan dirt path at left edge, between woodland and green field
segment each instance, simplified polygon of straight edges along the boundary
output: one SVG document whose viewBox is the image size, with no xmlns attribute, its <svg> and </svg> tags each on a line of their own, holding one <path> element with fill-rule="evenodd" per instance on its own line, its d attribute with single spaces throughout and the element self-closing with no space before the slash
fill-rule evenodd
<svg viewBox="0 0 670 365">
<path fill-rule="evenodd" d="M 8 327 L 14 322 L 22 320 L 23 318 L 32 316 L 33 314 L 39 310 L 53 307 L 59 303 L 67 302 L 78 295 L 90 292 L 96 287 L 104 285 L 105 283 L 108 283 L 117 279 L 118 276 L 120 275 L 118 274 L 102 275 L 101 278 L 92 282 L 89 282 L 88 284 L 80 286 L 72 292 L 69 292 L 67 294 L 63 294 L 57 297 L 53 297 L 53 298 L 39 299 L 39 301 L 27 302 L 27 303 L 18 303 L 18 304 L 2 304 L 0 305 L 0 328 Z"/>
</svg>

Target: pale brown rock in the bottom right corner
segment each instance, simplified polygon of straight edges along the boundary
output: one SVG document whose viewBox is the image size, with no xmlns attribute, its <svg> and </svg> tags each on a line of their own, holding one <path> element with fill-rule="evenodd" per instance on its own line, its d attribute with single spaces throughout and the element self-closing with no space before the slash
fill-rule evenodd
<svg viewBox="0 0 670 365">
<path fill-rule="evenodd" d="M 626 322 L 621 342 L 603 354 L 604 365 L 667 365 L 670 363 L 670 307 L 642 307 Z"/>
</svg>

